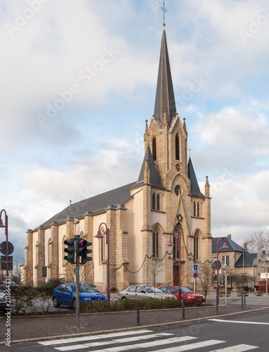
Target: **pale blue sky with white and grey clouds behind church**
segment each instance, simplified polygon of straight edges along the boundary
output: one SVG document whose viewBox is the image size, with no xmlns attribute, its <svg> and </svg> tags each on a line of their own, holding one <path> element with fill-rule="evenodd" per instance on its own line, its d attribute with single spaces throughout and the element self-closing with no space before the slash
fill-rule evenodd
<svg viewBox="0 0 269 352">
<path fill-rule="evenodd" d="M 27 229 L 134 182 L 154 112 L 159 0 L 2 0 L 0 208 L 23 260 Z M 269 5 L 167 0 L 177 112 L 213 237 L 269 230 Z M 0 230 L 4 241 L 4 230 Z"/>
</svg>

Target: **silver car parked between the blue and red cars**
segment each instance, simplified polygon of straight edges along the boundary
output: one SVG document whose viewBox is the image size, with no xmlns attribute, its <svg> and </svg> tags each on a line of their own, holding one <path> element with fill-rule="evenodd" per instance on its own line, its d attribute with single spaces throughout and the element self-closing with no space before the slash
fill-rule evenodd
<svg viewBox="0 0 269 352">
<path fill-rule="evenodd" d="M 154 286 L 134 285 L 128 287 L 124 291 L 119 292 L 118 299 L 125 298 L 175 298 L 175 296 L 171 294 L 164 294 L 161 289 L 157 289 L 157 287 Z"/>
</svg>

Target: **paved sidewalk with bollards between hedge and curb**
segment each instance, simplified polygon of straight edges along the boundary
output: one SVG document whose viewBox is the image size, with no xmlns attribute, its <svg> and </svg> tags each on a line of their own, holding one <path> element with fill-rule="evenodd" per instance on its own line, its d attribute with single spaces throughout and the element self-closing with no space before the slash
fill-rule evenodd
<svg viewBox="0 0 269 352">
<path fill-rule="evenodd" d="M 172 323 L 186 323 L 206 318 L 215 318 L 220 315 L 232 313 L 244 313 L 249 310 L 269 308 L 269 297 L 256 302 L 256 298 L 246 297 L 246 306 L 242 310 L 240 298 L 229 297 L 228 305 L 223 305 L 223 297 L 220 298 L 218 315 L 215 313 L 215 306 L 185 308 L 185 319 L 182 320 L 182 309 L 168 310 L 140 310 L 139 322 L 137 325 L 137 311 L 115 312 L 115 313 L 90 313 L 80 314 L 80 327 L 77 327 L 76 315 L 48 315 L 39 317 L 11 317 L 11 340 L 47 339 L 48 337 L 71 337 L 75 334 L 89 334 L 104 332 L 115 329 L 127 329 L 139 327 L 150 327 Z M 213 299 L 213 298 L 212 298 Z M 209 299 L 209 301 L 211 298 Z M 255 303 L 254 303 L 255 301 Z M 260 304 L 258 304 L 258 302 Z M 0 319 L 0 344 L 4 342 L 6 332 L 6 318 Z M 1 342 L 3 341 L 3 342 Z"/>
</svg>

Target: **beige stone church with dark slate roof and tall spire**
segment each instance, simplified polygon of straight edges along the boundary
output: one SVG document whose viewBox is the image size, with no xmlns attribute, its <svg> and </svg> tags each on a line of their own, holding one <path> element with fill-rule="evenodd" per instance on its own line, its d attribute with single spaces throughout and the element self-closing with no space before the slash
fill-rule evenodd
<svg viewBox="0 0 269 352">
<path fill-rule="evenodd" d="M 187 137 L 186 120 L 180 120 L 175 106 L 163 25 L 154 115 L 146 120 L 137 180 L 70 202 L 35 230 L 27 230 L 24 283 L 39 286 L 55 277 L 74 282 L 75 265 L 63 257 L 64 241 L 75 233 L 92 242 L 92 260 L 80 266 L 81 282 L 106 290 L 109 253 L 111 291 L 131 284 L 177 285 L 179 268 L 181 285 L 192 287 L 194 265 L 212 258 L 211 197 L 208 177 L 203 194 L 192 160 L 187 160 Z M 95 237 L 99 228 L 103 239 Z M 170 241 L 174 246 L 168 246 Z"/>
</svg>

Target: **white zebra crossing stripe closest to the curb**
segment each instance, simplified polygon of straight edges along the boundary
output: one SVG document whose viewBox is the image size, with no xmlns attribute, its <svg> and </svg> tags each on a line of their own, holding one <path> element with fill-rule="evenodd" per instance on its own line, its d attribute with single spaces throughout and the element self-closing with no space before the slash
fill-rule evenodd
<svg viewBox="0 0 269 352">
<path fill-rule="evenodd" d="M 130 330 L 127 332 L 128 335 L 137 335 L 137 334 L 146 334 L 147 332 L 152 332 L 152 330 Z M 96 339 L 109 339 L 113 337 L 121 337 L 126 336 L 126 332 L 113 332 L 110 334 L 99 334 L 99 335 L 88 335 L 83 337 L 71 337 L 66 339 L 56 339 L 50 341 L 41 341 L 39 344 L 44 346 L 56 345 L 56 344 L 70 344 L 72 342 L 80 342 L 80 341 L 90 341 Z"/>
</svg>

